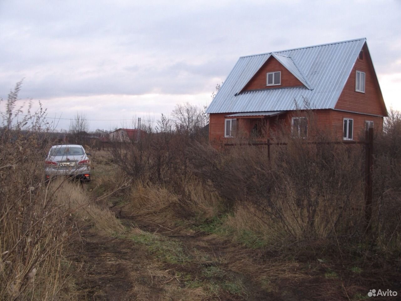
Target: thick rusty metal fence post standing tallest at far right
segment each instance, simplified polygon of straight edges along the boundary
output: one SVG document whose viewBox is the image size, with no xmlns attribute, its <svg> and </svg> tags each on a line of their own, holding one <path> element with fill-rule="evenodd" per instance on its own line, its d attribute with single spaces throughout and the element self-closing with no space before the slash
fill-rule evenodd
<svg viewBox="0 0 401 301">
<path fill-rule="evenodd" d="M 373 128 L 369 128 L 365 132 L 367 140 L 365 151 L 365 219 L 366 230 L 371 232 L 371 219 L 372 219 L 372 173 L 373 173 Z"/>
</svg>

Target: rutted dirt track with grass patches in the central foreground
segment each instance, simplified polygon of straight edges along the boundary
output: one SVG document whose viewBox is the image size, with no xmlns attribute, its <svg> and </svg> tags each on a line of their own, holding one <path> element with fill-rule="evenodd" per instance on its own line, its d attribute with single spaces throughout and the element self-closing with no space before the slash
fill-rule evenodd
<svg viewBox="0 0 401 301">
<path fill-rule="evenodd" d="M 82 300 L 308 300 L 299 283 L 284 277 L 288 271 L 293 278 L 298 264 L 268 266 L 255 250 L 164 227 L 147 216 L 122 221 L 131 228 L 119 237 L 90 229 L 81 234 L 82 252 L 75 260 L 86 275 L 76 283 Z"/>
</svg>

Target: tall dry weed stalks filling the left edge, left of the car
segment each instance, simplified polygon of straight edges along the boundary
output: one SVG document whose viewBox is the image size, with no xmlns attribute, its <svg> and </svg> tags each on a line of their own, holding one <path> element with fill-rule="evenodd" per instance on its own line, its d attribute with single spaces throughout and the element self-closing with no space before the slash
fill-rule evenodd
<svg viewBox="0 0 401 301">
<path fill-rule="evenodd" d="M 18 131 L 0 139 L 0 299 L 67 299 L 71 220 L 43 180 L 41 139 Z"/>
</svg>

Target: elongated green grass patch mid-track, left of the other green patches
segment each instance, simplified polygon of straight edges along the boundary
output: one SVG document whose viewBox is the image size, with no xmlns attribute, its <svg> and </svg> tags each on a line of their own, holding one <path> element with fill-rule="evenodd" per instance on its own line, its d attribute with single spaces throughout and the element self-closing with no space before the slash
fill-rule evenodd
<svg viewBox="0 0 401 301">
<path fill-rule="evenodd" d="M 146 246 L 150 254 L 155 255 L 163 262 L 171 264 L 185 264 L 191 260 L 184 252 L 180 242 L 158 234 L 141 231 L 129 237 L 137 244 Z"/>
</svg>

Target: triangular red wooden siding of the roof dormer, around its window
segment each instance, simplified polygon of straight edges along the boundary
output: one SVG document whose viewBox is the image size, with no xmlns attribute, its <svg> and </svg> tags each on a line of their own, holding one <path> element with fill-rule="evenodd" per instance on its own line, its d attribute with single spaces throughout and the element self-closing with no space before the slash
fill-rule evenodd
<svg viewBox="0 0 401 301">
<path fill-rule="evenodd" d="M 281 71 L 281 85 L 266 86 L 266 73 Z M 299 87 L 303 84 L 290 71 L 288 71 L 277 59 L 270 57 L 266 63 L 255 73 L 252 79 L 243 88 L 246 90 L 270 89 L 282 87 Z"/>
</svg>

